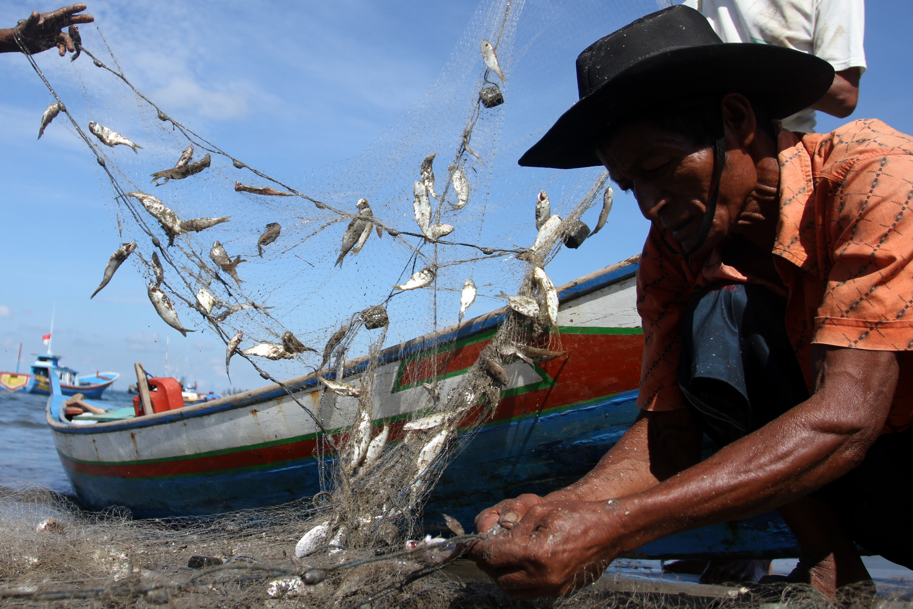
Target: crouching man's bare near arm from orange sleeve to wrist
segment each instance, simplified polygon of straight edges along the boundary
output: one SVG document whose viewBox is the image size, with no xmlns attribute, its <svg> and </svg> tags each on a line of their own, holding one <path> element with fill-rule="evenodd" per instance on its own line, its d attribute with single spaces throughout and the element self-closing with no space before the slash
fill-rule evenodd
<svg viewBox="0 0 913 609">
<path fill-rule="evenodd" d="M 606 516 L 623 551 L 777 508 L 855 467 L 887 417 L 898 366 L 891 352 L 839 351 L 865 364 L 695 467 L 614 500 Z"/>
</svg>

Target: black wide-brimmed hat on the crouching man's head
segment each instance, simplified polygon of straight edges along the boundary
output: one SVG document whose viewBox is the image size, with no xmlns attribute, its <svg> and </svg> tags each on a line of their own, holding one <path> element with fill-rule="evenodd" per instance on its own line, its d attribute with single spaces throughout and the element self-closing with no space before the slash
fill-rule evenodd
<svg viewBox="0 0 913 609">
<path fill-rule="evenodd" d="M 824 59 L 772 45 L 724 44 L 698 11 L 670 6 L 597 40 L 577 58 L 580 101 L 519 164 L 574 169 L 601 165 L 600 134 L 634 111 L 742 93 L 784 119 L 820 100 L 834 82 Z"/>
</svg>

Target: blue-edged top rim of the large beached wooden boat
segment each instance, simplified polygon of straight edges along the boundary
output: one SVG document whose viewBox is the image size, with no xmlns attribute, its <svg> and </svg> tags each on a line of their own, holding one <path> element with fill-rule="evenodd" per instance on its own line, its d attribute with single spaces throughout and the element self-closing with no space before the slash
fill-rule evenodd
<svg viewBox="0 0 913 609">
<path fill-rule="evenodd" d="M 576 278 L 568 283 L 558 287 L 559 302 L 569 302 L 571 300 L 582 298 L 598 289 L 607 288 L 616 283 L 635 276 L 639 268 L 640 255 L 626 258 L 616 262 L 608 267 L 600 268 L 582 278 Z M 504 320 L 507 314 L 507 307 L 490 311 L 471 320 L 456 323 L 447 326 L 436 332 L 431 332 L 423 336 L 416 337 L 409 341 L 400 342 L 384 349 L 378 357 L 378 365 L 384 365 L 390 362 L 397 362 L 416 353 L 423 352 L 434 347 L 437 343 L 459 340 L 467 338 L 474 334 L 497 328 Z M 362 372 L 370 362 L 369 355 L 362 355 L 345 363 L 343 376 L 351 376 Z M 289 388 L 293 393 L 305 392 L 311 388 L 317 388 L 320 384 L 317 380 L 322 374 L 326 374 L 326 369 L 300 376 L 292 377 L 281 383 Z M 67 425 L 58 422 L 51 416 L 51 408 L 55 398 L 63 399 L 62 395 L 51 395 L 47 400 L 45 408 L 45 418 L 47 425 L 51 430 L 61 434 L 100 434 L 124 431 L 139 427 L 148 427 L 153 425 L 165 425 L 178 421 L 184 421 L 190 418 L 197 418 L 205 415 L 215 415 L 244 408 L 253 404 L 262 404 L 270 400 L 288 396 L 286 391 L 279 383 L 269 383 L 257 389 L 252 389 L 241 394 L 228 395 L 218 400 L 206 402 L 203 404 L 194 404 L 177 408 L 174 410 L 155 413 L 153 415 L 143 415 L 124 421 L 110 421 L 108 423 L 97 423 L 95 425 Z"/>
</svg>

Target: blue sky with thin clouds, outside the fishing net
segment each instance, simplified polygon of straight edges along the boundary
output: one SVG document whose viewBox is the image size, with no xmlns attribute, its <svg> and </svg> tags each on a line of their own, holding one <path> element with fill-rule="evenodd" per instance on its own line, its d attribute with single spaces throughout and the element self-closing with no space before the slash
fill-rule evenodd
<svg viewBox="0 0 913 609">
<path fill-rule="evenodd" d="M 624 2 L 611 4 L 624 10 Z M 0 26 L 33 7 L 57 6 L 7 1 Z M 223 148 L 244 151 L 248 163 L 289 176 L 349 159 L 375 141 L 435 81 L 476 10 L 475 1 L 89 4 L 140 89 Z M 851 118 L 913 131 L 911 12 L 901 0 L 866 6 L 869 68 Z M 578 50 L 593 41 L 587 36 Z M 565 55 L 551 94 L 570 106 L 576 88 L 572 54 Z M 47 91 L 25 58 L 0 56 L 0 79 L 0 370 L 15 366 L 20 341 L 26 354 L 42 352 L 56 302 L 55 351 L 78 370 L 129 377 L 131 362 L 142 361 L 161 373 L 168 337 L 173 360 L 189 362 L 205 388 L 224 388 L 224 346 L 165 326 L 130 266 L 89 300 L 117 244 L 110 187 L 66 131 L 36 141 Z M 842 122 L 819 113 L 819 131 Z M 552 278 L 567 281 L 636 253 L 645 230 L 631 201 L 619 197 L 610 226 L 595 237 L 599 249 L 563 250 L 549 267 Z M 233 378 L 247 388 L 262 383 L 237 364 Z"/>
</svg>

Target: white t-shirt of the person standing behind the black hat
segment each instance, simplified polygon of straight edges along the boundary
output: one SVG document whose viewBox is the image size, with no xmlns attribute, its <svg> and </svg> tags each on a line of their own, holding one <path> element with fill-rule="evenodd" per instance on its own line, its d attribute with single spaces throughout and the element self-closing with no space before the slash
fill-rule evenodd
<svg viewBox="0 0 913 609">
<path fill-rule="evenodd" d="M 866 71 L 865 0 L 685 0 L 706 16 L 723 42 L 794 48 L 828 61 L 835 71 Z M 783 120 L 790 131 L 814 131 L 815 112 Z"/>
</svg>

